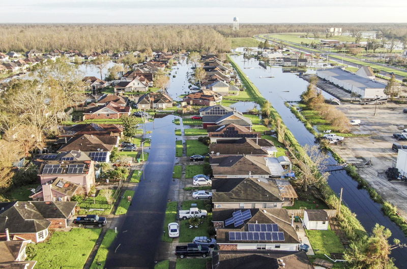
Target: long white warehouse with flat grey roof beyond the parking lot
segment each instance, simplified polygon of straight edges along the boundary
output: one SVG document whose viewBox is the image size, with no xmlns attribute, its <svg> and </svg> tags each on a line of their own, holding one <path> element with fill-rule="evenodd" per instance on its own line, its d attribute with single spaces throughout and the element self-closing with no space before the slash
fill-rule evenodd
<svg viewBox="0 0 407 269">
<path fill-rule="evenodd" d="M 361 98 L 386 97 L 383 90 L 386 85 L 364 78 L 339 68 L 317 70 L 316 75 L 350 92 L 356 92 Z"/>
</svg>

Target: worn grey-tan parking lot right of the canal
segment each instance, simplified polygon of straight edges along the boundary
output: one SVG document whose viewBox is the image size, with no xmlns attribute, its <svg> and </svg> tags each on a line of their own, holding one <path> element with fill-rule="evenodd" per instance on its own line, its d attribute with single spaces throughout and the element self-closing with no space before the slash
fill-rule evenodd
<svg viewBox="0 0 407 269">
<path fill-rule="evenodd" d="M 346 163 L 361 164 L 371 160 L 371 165 L 358 167 L 360 176 L 375 188 L 382 197 L 395 204 L 404 218 L 407 218 L 407 183 L 389 182 L 385 171 L 397 160 L 397 153 L 391 149 L 394 142 L 407 145 L 407 141 L 397 141 L 393 133 L 400 133 L 407 127 L 407 113 L 402 113 L 407 105 L 356 105 L 342 103 L 337 107 L 350 119 L 360 119 L 360 126 L 352 126 L 354 133 L 371 135 L 368 138 L 345 138 L 343 143 L 332 146 Z M 403 211 L 403 212 L 401 212 Z"/>
</svg>

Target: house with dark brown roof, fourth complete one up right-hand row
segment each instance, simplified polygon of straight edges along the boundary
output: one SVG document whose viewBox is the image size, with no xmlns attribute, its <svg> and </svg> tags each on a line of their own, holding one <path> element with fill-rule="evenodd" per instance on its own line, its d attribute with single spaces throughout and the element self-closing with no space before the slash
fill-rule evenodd
<svg viewBox="0 0 407 269">
<path fill-rule="evenodd" d="M 263 146 L 258 144 L 259 141 Z M 216 144 L 209 145 L 209 152 L 212 156 L 251 155 L 268 157 L 271 154 L 274 156 L 277 153 L 277 148 L 269 140 L 252 140 L 244 137 L 236 140 L 217 140 Z"/>
</svg>

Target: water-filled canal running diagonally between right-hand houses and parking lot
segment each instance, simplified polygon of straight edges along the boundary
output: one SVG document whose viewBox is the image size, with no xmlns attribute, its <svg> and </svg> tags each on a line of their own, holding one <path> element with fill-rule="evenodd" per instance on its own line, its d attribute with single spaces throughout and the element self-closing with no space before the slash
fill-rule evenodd
<svg viewBox="0 0 407 269">
<path fill-rule="evenodd" d="M 293 133 L 298 142 L 304 146 L 314 145 L 315 137 L 299 121 L 294 114 L 284 105 L 287 101 L 299 101 L 300 94 L 306 89 L 308 82 L 293 73 L 285 73 L 281 66 L 268 66 L 262 68 L 256 59 L 245 60 L 243 55 L 233 55 L 232 59 L 240 66 L 243 72 L 256 85 L 260 93 L 268 99 L 272 106 L 281 115 L 285 125 Z M 272 78 L 270 78 L 272 77 Z M 324 93 L 326 98 L 332 96 Z M 337 161 L 329 154 L 330 170 L 335 169 Z M 333 166 L 332 166 L 333 165 Z M 375 203 L 364 189 L 358 189 L 358 183 L 346 174 L 345 171 L 332 172 L 328 184 L 339 194 L 343 188 L 344 204 L 356 213 L 366 231 L 371 232 L 376 223 L 389 228 L 393 238 L 397 238 L 402 244 L 407 244 L 407 238 L 403 231 L 382 212 L 381 204 Z M 391 256 L 395 258 L 398 268 L 405 268 L 407 262 L 407 249 L 395 249 Z"/>
</svg>

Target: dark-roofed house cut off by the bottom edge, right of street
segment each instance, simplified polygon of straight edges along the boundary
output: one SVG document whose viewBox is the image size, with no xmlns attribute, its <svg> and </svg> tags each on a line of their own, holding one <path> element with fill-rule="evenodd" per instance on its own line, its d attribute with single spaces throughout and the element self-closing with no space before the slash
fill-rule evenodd
<svg viewBox="0 0 407 269">
<path fill-rule="evenodd" d="M 213 251 L 212 269 L 313 269 L 304 251 Z"/>
</svg>

